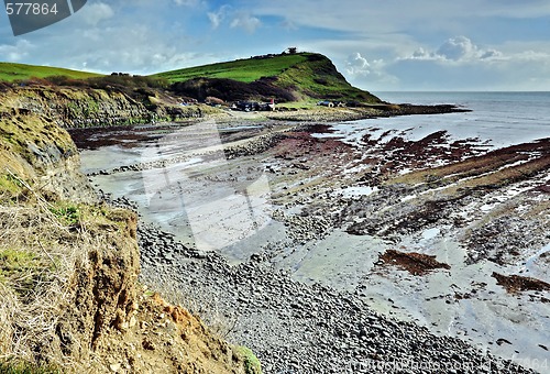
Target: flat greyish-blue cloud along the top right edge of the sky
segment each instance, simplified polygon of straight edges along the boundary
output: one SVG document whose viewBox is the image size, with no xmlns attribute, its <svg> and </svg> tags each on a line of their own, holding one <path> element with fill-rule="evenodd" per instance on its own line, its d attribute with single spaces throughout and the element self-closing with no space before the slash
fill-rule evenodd
<svg viewBox="0 0 550 374">
<path fill-rule="evenodd" d="M 375 0 L 242 0 L 256 15 L 288 19 L 298 26 L 359 32 L 369 35 L 422 30 L 457 34 L 462 22 L 550 15 L 548 0 L 462 0 L 462 1 L 375 1 Z M 398 8 L 398 12 L 396 9 Z"/>
</svg>

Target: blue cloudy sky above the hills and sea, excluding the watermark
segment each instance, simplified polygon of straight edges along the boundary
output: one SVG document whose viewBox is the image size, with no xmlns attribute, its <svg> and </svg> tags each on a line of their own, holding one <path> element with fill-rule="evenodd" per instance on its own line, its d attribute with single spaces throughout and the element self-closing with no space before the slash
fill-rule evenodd
<svg viewBox="0 0 550 374">
<path fill-rule="evenodd" d="M 295 46 L 370 91 L 550 90 L 548 0 L 88 0 L 0 61 L 153 74 Z"/>
</svg>

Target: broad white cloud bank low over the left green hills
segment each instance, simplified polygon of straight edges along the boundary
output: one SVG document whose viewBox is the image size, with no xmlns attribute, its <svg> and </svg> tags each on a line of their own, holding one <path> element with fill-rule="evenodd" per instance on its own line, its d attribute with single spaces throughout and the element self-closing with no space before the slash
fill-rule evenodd
<svg viewBox="0 0 550 374">
<path fill-rule="evenodd" d="M 47 43 L 42 35 L 30 34 L 34 37 L 30 38 L 32 46 L 20 42 L 10 48 L 0 47 L 0 58 L 75 69 L 85 66 L 105 74 L 153 74 L 195 65 L 201 56 L 188 37 L 167 37 L 163 30 L 153 26 L 154 20 L 147 24 L 120 18 L 97 26 L 88 26 L 77 16 L 67 21 L 61 22 L 58 29 L 70 32 L 56 31 Z M 23 52 L 24 58 L 18 58 L 15 53 L 23 55 Z"/>
</svg>

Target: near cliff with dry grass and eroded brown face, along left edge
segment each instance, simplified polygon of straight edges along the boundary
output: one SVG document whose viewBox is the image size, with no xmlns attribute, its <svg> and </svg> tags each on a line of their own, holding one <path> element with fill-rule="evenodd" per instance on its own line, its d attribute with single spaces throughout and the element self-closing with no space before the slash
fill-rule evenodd
<svg viewBox="0 0 550 374">
<path fill-rule="evenodd" d="M 92 103 L 97 116 L 79 117 Z M 96 200 L 62 129 L 147 113 L 122 94 L 0 92 L 0 356 L 64 372 L 244 372 L 239 350 L 138 284 L 136 216 Z"/>
</svg>

